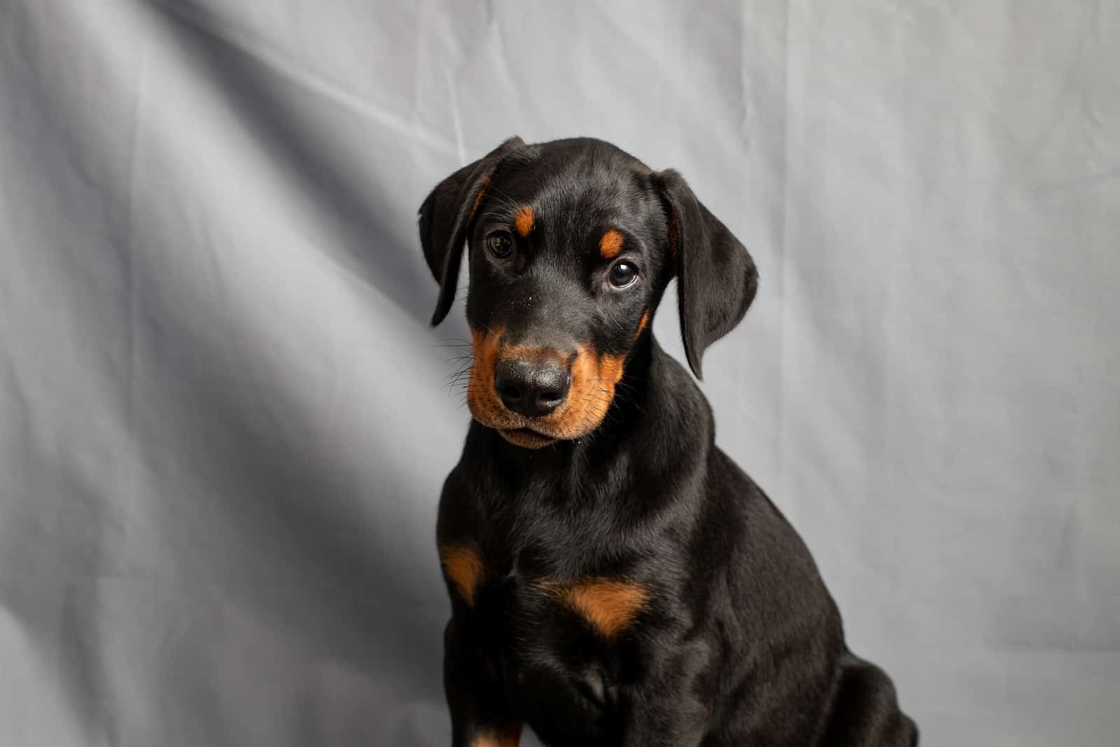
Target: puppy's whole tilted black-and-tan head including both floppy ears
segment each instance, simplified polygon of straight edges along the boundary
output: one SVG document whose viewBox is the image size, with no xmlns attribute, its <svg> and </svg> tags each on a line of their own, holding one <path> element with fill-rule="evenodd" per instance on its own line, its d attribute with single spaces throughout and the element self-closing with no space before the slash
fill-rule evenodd
<svg viewBox="0 0 1120 747">
<path fill-rule="evenodd" d="M 525 447 L 599 426 L 673 276 L 698 377 L 758 282 L 746 248 L 679 173 L 587 138 L 512 138 L 459 169 L 420 208 L 420 240 L 440 284 L 432 324 L 455 300 L 467 246 L 467 404 Z"/>
</svg>

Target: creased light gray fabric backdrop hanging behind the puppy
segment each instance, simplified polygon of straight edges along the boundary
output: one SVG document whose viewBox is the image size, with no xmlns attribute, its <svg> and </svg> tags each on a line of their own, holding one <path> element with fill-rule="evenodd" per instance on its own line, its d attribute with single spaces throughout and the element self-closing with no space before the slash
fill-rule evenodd
<svg viewBox="0 0 1120 747">
<path fill-rule="evenodd" d="M 414 216 L 514 133 L 752 247 L 718 441 L 925 744 L 1118 744 L 1118 3 L 685 4 L 0 0 L 0 744 L 448 743 Z"/>
</svg>

